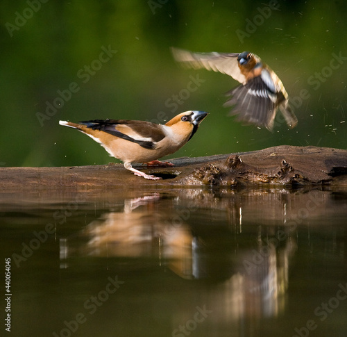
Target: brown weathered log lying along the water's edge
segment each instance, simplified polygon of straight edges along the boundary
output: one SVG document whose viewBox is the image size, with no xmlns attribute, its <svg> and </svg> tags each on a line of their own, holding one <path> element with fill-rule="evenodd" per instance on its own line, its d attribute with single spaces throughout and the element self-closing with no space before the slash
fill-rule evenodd
<svg viewBox="0 0 347 337">
<path fill-rule="evenodd" d="M 347 151 L 322 147 L 278 146 L 242 154 L 177 158 L 176 167 L 143 169 L 162 176 L 146 181 L 123 165 L 85 167 L 1 167 L 1 188 L 92 188 L 119 186 L 236 186 L 316 183 L 347 185 Z M 142 170 L 142 168 L 141 168 Z"/>
</svg>

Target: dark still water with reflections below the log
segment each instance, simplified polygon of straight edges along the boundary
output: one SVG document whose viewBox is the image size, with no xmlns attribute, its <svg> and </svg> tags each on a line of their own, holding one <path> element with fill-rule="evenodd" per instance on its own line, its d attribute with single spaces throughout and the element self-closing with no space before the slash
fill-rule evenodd
<svg viewBox="0 0 347 337">
<path fill-rule="evenodd" d="M 0 211 L 9 336 L 346 336 L 346 190 L 3 192 Z"/>
</svg>

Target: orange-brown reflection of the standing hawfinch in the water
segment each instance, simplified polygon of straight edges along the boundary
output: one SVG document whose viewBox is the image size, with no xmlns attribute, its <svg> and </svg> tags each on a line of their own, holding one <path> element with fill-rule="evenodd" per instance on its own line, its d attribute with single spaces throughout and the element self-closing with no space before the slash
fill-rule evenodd
<svg viewBox="0 0 347 337">
<path fill-rule="evenodd" d="M 180 277 L 192 278 L 192 233 L 155 208 L 159 199 L 159 193 L 126 199 L 124 211 L 105 213 L 90 223 L 84 232 L 90 238 L 87 254 L 154 257 Z"/>
</svg>

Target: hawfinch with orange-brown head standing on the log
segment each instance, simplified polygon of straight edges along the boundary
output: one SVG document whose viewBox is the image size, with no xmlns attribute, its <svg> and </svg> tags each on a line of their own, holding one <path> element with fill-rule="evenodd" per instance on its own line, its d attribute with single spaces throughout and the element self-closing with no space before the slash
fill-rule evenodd
<svg viewBox="0 0 347 337">
<path fill-rule="evenodd" d="M 131 163 L 173 166 L 157 159 L 173 154 L 183 147 L 207 115 L 208 113 L 203 111 L 186 111 L 164 125 L 138 120 L 90 120 L 80 124 L 60 120 L 59 124 L 89 135 L 99 142 L 110 156 L 123 161 L 124 167 L 136 176 L 156 180 L 160 178 L 135 170 Z"/>
</svg>

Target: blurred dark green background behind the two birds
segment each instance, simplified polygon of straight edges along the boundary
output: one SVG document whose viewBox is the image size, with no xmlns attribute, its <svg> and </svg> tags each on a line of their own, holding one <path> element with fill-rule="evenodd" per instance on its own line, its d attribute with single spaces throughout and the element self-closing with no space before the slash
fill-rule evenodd
<svg viewBox="0 0 347 337">
<path fill-rule="evenodd" d="M 3 166 L 109 163 L 114 159 L 96 142 L 58 121 L 164 122 L 162 116 L 169 120 L 185 110 L 210 115 L 171 158 L 275 145 L 347 147 L 346 1 L 43 2 L 0 5 Z M 278 9 L 269 13 L 269 4 Z M 180 67 L 171 46 L 259 55 L 294 98 L 298 126 L 289 130 L 280 123 L 273 133 L 242 126 L 223 108 L 223 94 L 238 83 L 223 74 Z M 102 47 L 117 53 L 98 63 Z M 101 68 L 88 78 L 84 67 L 90 65 Z M 189 81 L 196 76 L 201 83 L 189 92 Z M 58 90 L 73 82 L 78 92 L 47 115 L 46 102 L 53 104 Z"/>
</svg>

